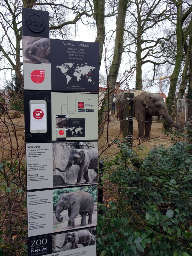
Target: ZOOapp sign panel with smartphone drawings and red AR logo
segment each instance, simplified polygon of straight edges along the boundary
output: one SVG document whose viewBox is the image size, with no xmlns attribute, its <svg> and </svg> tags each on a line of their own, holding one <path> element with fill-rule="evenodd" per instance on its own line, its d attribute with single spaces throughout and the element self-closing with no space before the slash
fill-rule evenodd
<svg viewBox="0 0 192 256">
<path fill-rule="evenodd" d="M 97 140 L 98 94 L 24 91 L 25 141 Z"/>
</svg>

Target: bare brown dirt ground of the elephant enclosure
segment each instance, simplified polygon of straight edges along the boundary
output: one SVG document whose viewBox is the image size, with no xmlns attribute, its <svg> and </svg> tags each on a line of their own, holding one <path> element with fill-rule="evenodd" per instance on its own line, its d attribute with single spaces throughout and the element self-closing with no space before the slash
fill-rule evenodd
<svg viewBox="0 0 192 256">
<path fill-rule="evenodd" d="M 5 124 L 3 124 L 3 122 Z M 15 124 L 15 129 L 12 125 Z M 21 115 L 20 118 L 11 119 L 11 122 L 8 118 L 5 117 L 4 120 L 0 122 L 0 156 L 1 159 L 10 159 L 14 157 L 11 156 L 10 146 L 14 150 L 15 156 L 18 153 L 24 155 L 25 153 L 25 131 L 24 131 L 24 114 Z M 105 125 L 104 137 L 99 140 L 99 155 L 102 153 L 102 159 L 105 157 L 109 157 L 110 155 L 118 153 L 117 144 L 114 141 L 118 140 L 122 142 L 123 134 L 119 134 L 120 124 L 119 120 L 116 119 L 115 115 L 112 114 L 109 122 L 109 132 L 107 133 L 107 124 Z M 10 136 L 7 131 L 10 131 Z M 17 135 L 17 140 L 15 138 L 15 133 Z M 143 146 L 146 151 L 149 151 L 151 147 L 158 146 L 159 144 L 163 144 L 168 147 L 171 144 L 170 137 L 167 137 L 166 134 L 162 131 L 162 123 L 153 122 L 151 128 L 151 139 L 147 141 L 138 140 L 138 125 L 137 121 L 133 121 L 133 147 Z M 11 139 L 11 145 L 10 145 Z M 109 143 L 109 145 L 108 145 Z M 18 146 L 18 151 L 17 151 Z"/>
</svg>

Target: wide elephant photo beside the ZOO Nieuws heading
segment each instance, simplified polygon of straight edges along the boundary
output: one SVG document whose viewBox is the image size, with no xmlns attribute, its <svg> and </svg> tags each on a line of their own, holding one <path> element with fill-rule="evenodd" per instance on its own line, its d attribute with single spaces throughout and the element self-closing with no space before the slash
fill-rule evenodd
<svg viewBox="0 0 192 256">
<path fill-rule="evenodd" d="M 70 231 L 52 236 L 52 252 L 67 251 L 96 244 L 96 228 Z M 57 249 L 59 248 L 59 250 Z"/>
</svg>

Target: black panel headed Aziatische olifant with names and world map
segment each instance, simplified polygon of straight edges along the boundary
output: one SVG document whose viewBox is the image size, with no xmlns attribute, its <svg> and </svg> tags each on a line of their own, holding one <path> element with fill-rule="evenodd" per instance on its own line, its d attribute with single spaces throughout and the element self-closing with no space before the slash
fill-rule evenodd
<svg viewBox="0 0 192 256">
<path fill-rule="evenodd" d="M 52 91 L 99 91 L 99 44 L 51 40 Z"/>
</svg>

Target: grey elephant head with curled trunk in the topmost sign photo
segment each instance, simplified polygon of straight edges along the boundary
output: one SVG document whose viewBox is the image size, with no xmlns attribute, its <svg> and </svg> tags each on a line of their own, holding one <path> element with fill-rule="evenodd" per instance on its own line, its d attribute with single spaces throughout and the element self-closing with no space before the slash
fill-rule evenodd
<svg viewBox="0 0 192 256">
<path fill-rule="evenodd" d="M 49 38 L 41 38 L 25 47 L 24 56 L 29 60 L 43 63 L 38 58 L 44 58 L 51 62 L 51 44 Z M 38 57 L 38 58 L 36 58 Z"/>
</svg>

